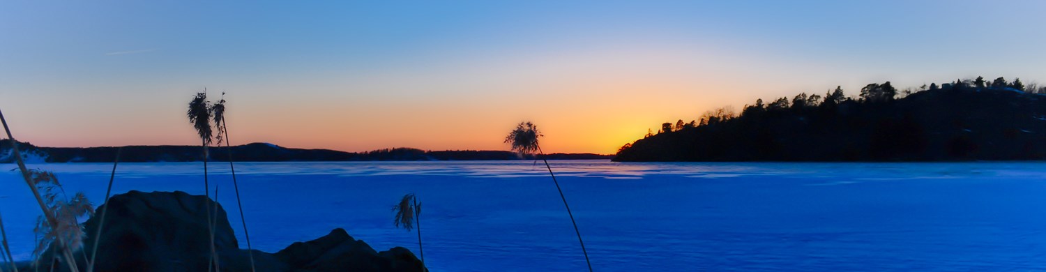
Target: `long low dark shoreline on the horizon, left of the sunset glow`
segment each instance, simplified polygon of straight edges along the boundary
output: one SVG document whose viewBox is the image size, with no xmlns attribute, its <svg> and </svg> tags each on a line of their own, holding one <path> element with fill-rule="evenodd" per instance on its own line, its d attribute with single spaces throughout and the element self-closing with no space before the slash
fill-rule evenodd
<svg viewBox="0 0 1046 272">
<path fill-rule="evenodd" d="M 20 142 L 23 157 L 33 162 L 112 162 L 114 146 L 103 148 L 43 148 Z M 226 160 L 225 146 L 211 146 L 211 160 Z M 523 159 L 507 151 L 423 151 L 417 149 L 387 149 L 363 153 L 333 150 L 303 150 L 283 148 L 271 143 L 248 143 L 231 148 L 235 161 L 418 161 L 418 160 L 518 160 Z M 547 159 L 610 159 L 610 155 L 549 154 Z M 0 163 L 9 163 L 10 143 L 0 140 Z M 532 159 L 529 157 L 527 159 Z M 130 145 L 123 146 L 123 162 L 180 162 L 199 161 L 199 145 Z"/>
</svg>

